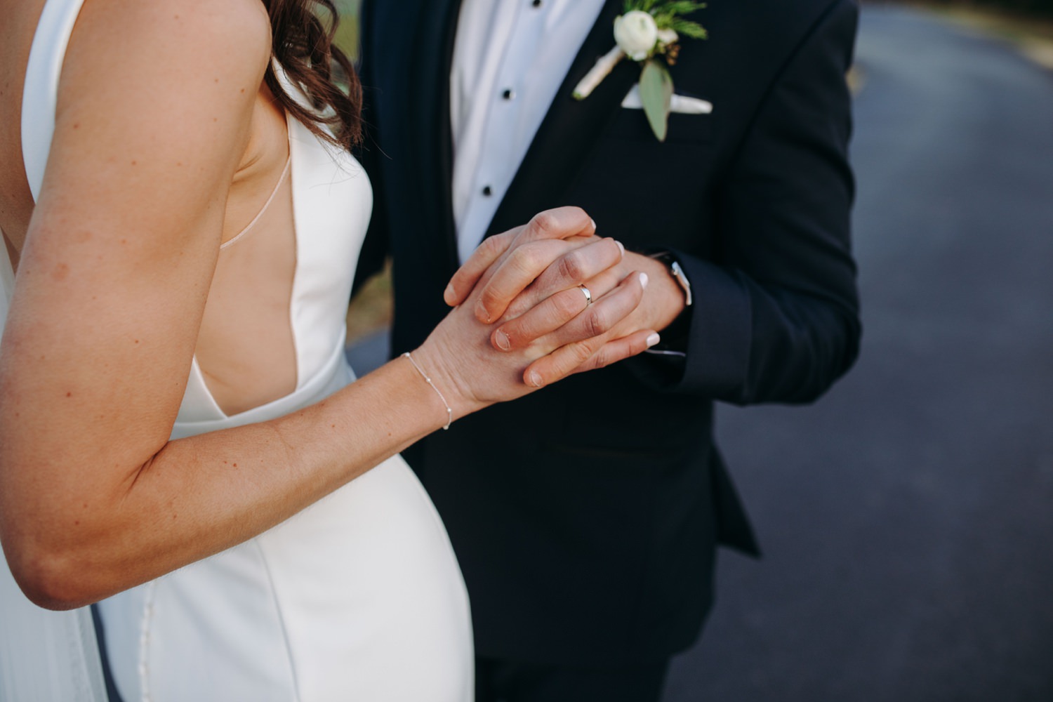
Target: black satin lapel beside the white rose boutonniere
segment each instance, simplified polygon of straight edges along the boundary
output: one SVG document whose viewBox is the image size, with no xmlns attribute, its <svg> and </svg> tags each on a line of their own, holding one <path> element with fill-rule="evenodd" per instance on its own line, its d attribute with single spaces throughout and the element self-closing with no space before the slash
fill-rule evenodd
<svg viewBox="0 0 1053 702">
<path fill-rule="evenodd" d="M 591 96 L 580 101 L 571 97 L 578 81 L 596 65 L 596 59 L 614 48 L 614 19 L 623 7 L 622 0 L 608 0 L 604 5 L 534 136 L 486 236 L 523 224 L 539 209 L 573 204 L 562 202 L 562 194 L 574 182 L 603 123 L 640 77 L 639 66 L 622 59 Z"/>
</svg>

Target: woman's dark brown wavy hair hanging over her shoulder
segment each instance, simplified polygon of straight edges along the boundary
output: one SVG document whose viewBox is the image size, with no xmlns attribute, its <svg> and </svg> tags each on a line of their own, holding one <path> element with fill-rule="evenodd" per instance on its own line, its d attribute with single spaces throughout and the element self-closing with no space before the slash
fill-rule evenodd
<svg viewBox="0 0 1053 702">
<path fill-rule="evenodd" d="M 344 148 L 358 144 L 362 85 L 351 61 L 333 43 L 339 22 L 333 0 L 263 0 L 263 5 L 271 16 L 271 52 L 293 83 L 302 87 L 313 109 L 285 92 L 274 66 L 267 67 L 267 87 L 293 117 L 322 139 Z"/>
</svg>

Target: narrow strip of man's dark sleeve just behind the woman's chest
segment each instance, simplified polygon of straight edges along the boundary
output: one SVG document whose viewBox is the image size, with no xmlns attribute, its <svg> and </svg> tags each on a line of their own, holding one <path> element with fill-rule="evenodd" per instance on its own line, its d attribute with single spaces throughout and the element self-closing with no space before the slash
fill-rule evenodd
<svg viewBox="0 0 1053 702">
<path fill-rule="evenodd" d="M 373 79 L 373 62 L 376 61 L 375 51 L 371 42 L 376 32 L 372 27 L 374 21 L 374 5 L 377 0 L 362 0 L 359 12 L 359 29 L 361 42 L 358 56 L 358 75 L 362 82 L 362 124 L 364 125 L 362 143 L 356 149 L 355 157 L 365 168 L 373 186 L 373 215 L 370 218 L 370 227 L 365 234 L 365 241 L 358 255 L 358 267 L 355 272 L 355 283 L 352 288 L 352 296 L 358 288 L 374 274 L 383 268 L 384 260 L 390 255 L 390 241 L 388 232 L 388 200 L 384 197 L 384 178 L 381 159 L 384 158 L 380 151 L 380 135 L 378 134 L 378 120 L 374 117 L 374 96 L 375 80 Z"/>
</svg>

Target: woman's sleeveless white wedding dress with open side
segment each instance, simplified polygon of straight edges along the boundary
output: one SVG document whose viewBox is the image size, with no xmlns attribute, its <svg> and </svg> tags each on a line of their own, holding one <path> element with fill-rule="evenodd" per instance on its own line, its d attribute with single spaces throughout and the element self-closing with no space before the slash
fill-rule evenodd
<svg viewBox="0 0 1053 702">
<path fill-rule="evenodd" d="M 65 45 L 83 0 L 48 0 L 23 98 L 36 197 Z M 235 416 L 195 362 L 173 438 L 294 412 L 352 382 L 344 310 L 372 206 L 346 153 L 289 120 L 297 387 Z M 0 252 L 3 247 L 0 246 Z M 0 253 L 0 324 L 13 279 Z M 133 700 L 468 702 L 468 598 L 445 530 L 395 457 L 279 526 L 100 604 L 114 680 Z M 105 699 L 87 609 L 29 604 L 0 565 L 0 695 Z"/>
</svg>

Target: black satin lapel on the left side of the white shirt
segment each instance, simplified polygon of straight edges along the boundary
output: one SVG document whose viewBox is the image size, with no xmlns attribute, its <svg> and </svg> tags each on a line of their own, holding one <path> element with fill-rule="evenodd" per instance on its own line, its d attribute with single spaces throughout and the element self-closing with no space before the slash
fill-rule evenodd
<svg viewBox="0 0 1053 702">
<path fill-rule="evenodd" d="M 458 266 L 458 259 L 453 209 L 450 67 L 460 0 L 421 0 L 417 6 L 419 22 L 413 65 L 418 79 L 413 83 L 416 95 L 410 101 L 416 108 L 412 131 L 414 146 L 409 153 L 417 160 L 418 173 L 423 179 L 417 192 L 434 205 L 426 210 L 438 217 L 435 235 L 444 238 L 442 253 L 452 273 Z M 426 206 L 426 203 L 420 204 Z"/>
</svg>

